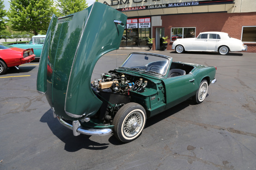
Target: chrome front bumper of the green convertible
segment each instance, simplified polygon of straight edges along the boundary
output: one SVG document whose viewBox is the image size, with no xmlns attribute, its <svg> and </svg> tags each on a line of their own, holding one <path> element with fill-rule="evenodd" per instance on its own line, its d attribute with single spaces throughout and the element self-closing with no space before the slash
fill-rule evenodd
<svg viewBox="0 0 256 170">
<path fill-rule="evenodd" d="M 53 117 L 55 117 L 55 116 L 56 116 L 55 113 L 53 113 Z M 78 120 L 73 121 L 72 125 L 71 125 L 70 123 L 65 122 L 60 117 L 58 117 L 58 116 L 56 116 L 56 117 L 62 125 L 73 130 L 74 136 L 78 136 L 78 135 L 80 135 L 80 133 L 85 134 L 85 135 L 91 135 L 91 136 L 104 136 L 104 135 L 109 135 L 112 132 L 111 129 L 89 129 L 89 128 L 82 127 Z"/>
</svg>

